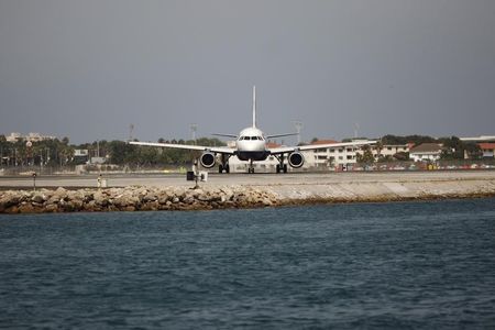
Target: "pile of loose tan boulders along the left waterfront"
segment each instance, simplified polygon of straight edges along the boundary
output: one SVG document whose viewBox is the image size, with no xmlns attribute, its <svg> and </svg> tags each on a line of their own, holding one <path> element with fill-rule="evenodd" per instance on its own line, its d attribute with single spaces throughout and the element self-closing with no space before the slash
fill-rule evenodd
<svg viewBox="0 0 495 330">
<path fill-rule="evenodd" d="M 125 187 L 108 189 L 0 191 L 0 213 L 102 212 L 156 210 L 210 210 L 270 207 L 279 204 L 275 194 L 253 187 L 229 186 Z"/>
</svg>

